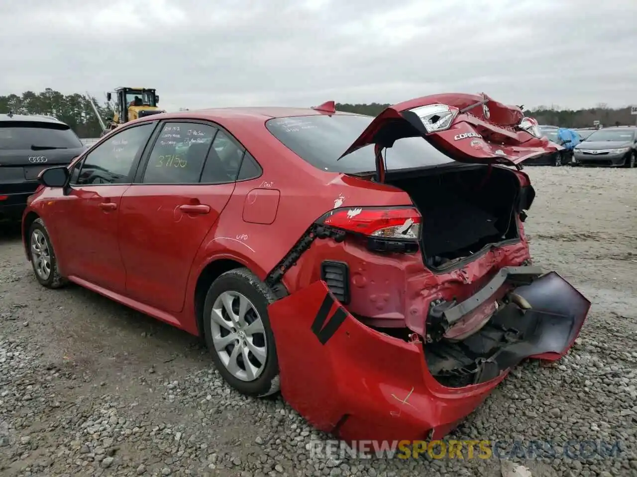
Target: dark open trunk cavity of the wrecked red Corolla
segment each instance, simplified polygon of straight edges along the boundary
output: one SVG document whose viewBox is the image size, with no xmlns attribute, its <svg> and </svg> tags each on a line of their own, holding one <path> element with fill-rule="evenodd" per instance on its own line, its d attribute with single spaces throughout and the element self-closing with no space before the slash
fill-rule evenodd
<svg viewBox="0 0 637 477">
<path fill-rule="evenodd" d="M 385 180 L 404 190 L 422 215 L 425 266 L 445 270 L 487 245 L 519 239 L 515 172 L 483 165 L 394 172 Z"/>
</svg>

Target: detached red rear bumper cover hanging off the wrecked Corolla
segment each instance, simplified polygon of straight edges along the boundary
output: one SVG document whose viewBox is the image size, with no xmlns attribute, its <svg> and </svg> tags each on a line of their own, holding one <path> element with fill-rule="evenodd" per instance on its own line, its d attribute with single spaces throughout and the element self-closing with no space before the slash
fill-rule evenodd
<svg viewBox="0 0 637 477">
<path fill-rule="evenodd" d="M 433 329 L 483 312 L 497 302 L 497 284 L 536 273 L 525 268 L 503 269 L 468 300 L 439 305 L 444 311 L 434 311 L 440 322 Z M 366 326 L 326 282 L 315 282 L 270 305 L 283 397 L 317 429 L 345 441 L 442 438 L 520 361 L 563 356 L 590 306 L 555 272 L 515 295 L 499 300 L 503 305 L 475 335 L 429 342 Z"/>
</svg>

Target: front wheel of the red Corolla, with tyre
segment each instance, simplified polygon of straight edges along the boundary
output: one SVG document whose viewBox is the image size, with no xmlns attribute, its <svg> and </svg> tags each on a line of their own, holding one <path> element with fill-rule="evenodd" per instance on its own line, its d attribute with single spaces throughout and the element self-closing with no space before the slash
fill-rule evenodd
<svg viewBox="0 0 637 477">
<path fill-rule="evenodd" d="M 29 253 L 39 284 L 47 288 L 59 288 L 66 284 L 66 279 L 57 268 L 57 258 L 47 226 L 41 218 L 35 219 L 29 229 Z"/>
</svg>

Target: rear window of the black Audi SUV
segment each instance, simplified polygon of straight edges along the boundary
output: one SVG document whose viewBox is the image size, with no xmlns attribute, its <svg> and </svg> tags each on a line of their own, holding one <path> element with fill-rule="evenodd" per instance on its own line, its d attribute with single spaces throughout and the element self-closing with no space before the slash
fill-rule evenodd
<svg viewBox="0 0 637 477">
<path fill-rule="evenodd" d="M 0 149 L 36 150 L 82 148 L 67 125 L 29 121 L 1 121 Z"/>
</svg>

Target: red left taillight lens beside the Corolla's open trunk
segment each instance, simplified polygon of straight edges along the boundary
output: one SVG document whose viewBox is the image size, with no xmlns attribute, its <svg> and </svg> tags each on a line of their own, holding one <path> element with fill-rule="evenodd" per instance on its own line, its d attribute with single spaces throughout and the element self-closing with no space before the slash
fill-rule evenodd
<svg viewBox="0 0 637 477">
<path fill-rule="evenodd" d="M 413 207 L 348 207 L 323 216 L 322 225 L 373 239 L 419 240 L 422 218 Z"/>
</svg>

